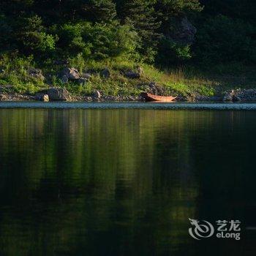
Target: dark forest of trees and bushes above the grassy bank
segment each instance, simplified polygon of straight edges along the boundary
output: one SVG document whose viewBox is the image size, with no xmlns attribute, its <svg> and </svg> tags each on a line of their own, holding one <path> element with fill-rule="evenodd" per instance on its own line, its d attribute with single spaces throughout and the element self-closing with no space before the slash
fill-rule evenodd
<svg viewBox="0 0 256 256">
<path fill-rule="evenodd" d="M 0 52 L 255 64 L 255 11 L 254 0 L 1 0 Z"/>
</svg>

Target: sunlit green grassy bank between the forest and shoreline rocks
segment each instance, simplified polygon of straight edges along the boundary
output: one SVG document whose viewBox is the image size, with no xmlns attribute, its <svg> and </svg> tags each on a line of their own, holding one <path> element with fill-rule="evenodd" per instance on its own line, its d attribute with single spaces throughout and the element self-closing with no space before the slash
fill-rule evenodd
<svg viewBox="0 0 256 256">
<path fill-rule="evenodd" d="M 64 64 L 56 61 L 45 61 L 38 64 L 31 58 L 10 58 L 2 56 L 0 59 L 1 93 L 36 94 L 49 87 L 67 89 L 72 95 L 91 95 L 98 90 L 105 96 L 137 96 L 148 90 L 148 84 L 157 83 L 163 89 L 163 94 L 174 94 L 189 97 L 193 94 L 214 96 L 222 94 L 228 89 L 254 88 L 256 75 L 252 67 L 239 64 L 230 66 L 211 67 L 176 67 L 173 69 L 157 69 L 156 67 L 139 64 L 143 68 L 143 75 L 138 79 L 125 77 L 126 70 L 135 70 L 138 63 L 115 59 L 112 61 L 86 61 L 79 56 L 68 60 L 68 67 L 75 67 L 80 74 L 91 72 L 91 78 L 86 84 L 74 81 L 62 83 L 59 73 Z M 29 69 L 42 70 L 45 77 L 38 78 L 29 74 Z M 108 68 L 110 78 L 100 75 L 102 69 Z M 200 71 L 199 71 L 200 70 Z"/>
</svg>

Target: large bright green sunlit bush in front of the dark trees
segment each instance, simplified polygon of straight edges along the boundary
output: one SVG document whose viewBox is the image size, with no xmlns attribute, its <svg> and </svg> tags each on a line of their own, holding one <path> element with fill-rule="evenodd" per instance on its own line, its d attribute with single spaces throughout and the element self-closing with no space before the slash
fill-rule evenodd
<svg viewBox="0 0 256 256">
<path fill-rule="evenodd" d="M 116 23 L 67 23 L 59 30 L 59 47 L 64 54 L 83 58 L 108 59 L 131 54 L 137 43 L 137 34 L 129 26 Z"/>
</svg>

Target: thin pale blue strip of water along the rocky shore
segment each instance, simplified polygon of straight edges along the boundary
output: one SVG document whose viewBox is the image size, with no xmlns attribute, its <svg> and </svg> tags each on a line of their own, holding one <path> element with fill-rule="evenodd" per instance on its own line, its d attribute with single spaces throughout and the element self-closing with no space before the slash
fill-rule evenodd
<svg viewBox="0 0 256 256">
<path fill-rule="evenodd" d="M 0 110 L 55 109 L 55 110 L 219 110 L 256 111 L 256 102 L 0 102 Z"/>
</svg>

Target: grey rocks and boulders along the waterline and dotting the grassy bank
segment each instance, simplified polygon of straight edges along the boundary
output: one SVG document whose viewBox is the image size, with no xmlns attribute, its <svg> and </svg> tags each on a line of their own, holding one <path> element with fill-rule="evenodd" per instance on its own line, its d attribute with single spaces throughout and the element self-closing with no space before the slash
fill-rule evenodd
<svg viewBox="0 0 256 256">
<path fill-rule="evenodd" d="M 80 84 L 81 86 L 86 86 L 90 82 L 91 77 L 94 75 L 95 70 L 88 71 L 86 73 L 80 74 L 78 69 L 65 67 L 59 73 L 59 79 L 63 85 L 68 81 L 72 83 Z M 32 78 L 37 78 L 39 80 L 45 80 L 44 75 L 40 69 L 30 68 L 28 74 Z M 104 78 L 110 78 L 110 69 L 105 68 L 99 72 L 99 75 Z M 136 70 L 128 69 L 123 70 L 122 75 L 130 80 L 143 78 L 143 69 L 137 67 Z M 143 101 L 143 97 L 139 95 L 118 95 L 111 96 L 105 95 L 105 91 L 94 91 L 90 95 L 78 95 L 70 94 L 67 89 L 63 87 L 53 87 L 50 83 L 46 84 L 49 86 L 48 89 L 38 91 L 35 94 L 18 94 L 12 91 L 14 86 L 12 85 L 0 85 L 0 101 L 29 101 L 29 100 L 39 100 L 42 102 L 53 102 L 53 101 L 67 101 L 67 102 L 124 102 L 124 101 Z M 138 84 L 135 84 L 136 89 L 139 91 L 145 91 L 154 95 L 170 95 L 177 96 L 176 101 L 178 102 L 256 102 L 256 89 L 233 89 L 230 91 L 219 92 L 218 95 L 214 96 L 204 96 L 197 92 L 192 92 L 184 95 L 177 95 L 176 91 L 167 91 L 165 86 L 154 81 L 142 81 L 138 80 Z"/>
</svg>

